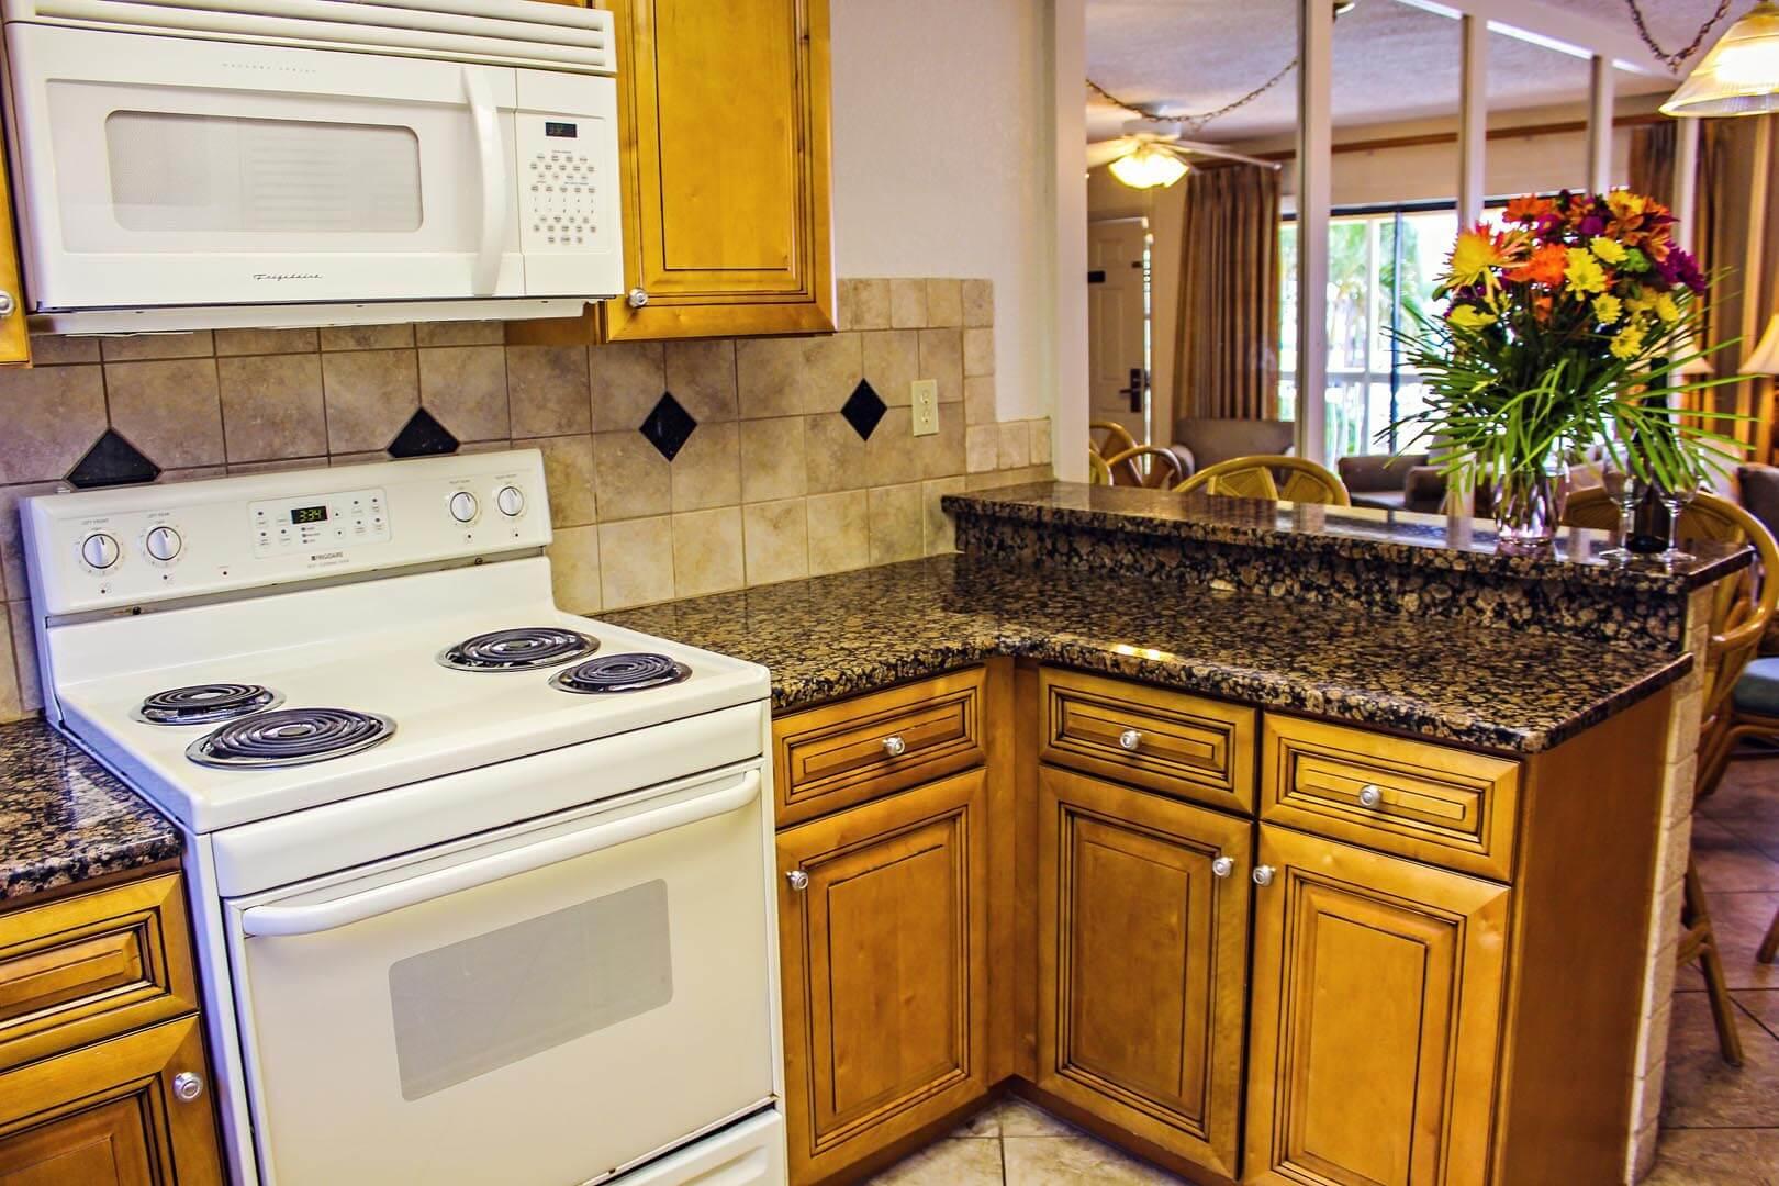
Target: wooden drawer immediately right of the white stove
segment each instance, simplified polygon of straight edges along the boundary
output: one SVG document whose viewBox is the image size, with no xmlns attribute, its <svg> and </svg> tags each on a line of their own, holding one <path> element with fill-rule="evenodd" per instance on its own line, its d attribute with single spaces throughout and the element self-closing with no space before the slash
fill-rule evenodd
<svg viewBox="0 0 1779 1186">
<path fill-rule="evenodd" d="M 973 667 L 774 720 L 779 827 L 980 765 L 982 679 Z"/>
</svg>

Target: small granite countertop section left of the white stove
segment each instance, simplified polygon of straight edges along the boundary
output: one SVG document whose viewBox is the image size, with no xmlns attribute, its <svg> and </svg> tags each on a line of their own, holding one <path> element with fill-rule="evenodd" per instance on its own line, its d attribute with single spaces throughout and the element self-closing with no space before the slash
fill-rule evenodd
<svg viewBox="0 0 1779 1186">
<path fill-rule="evenodd" d="M 178 855 L 178 829 L 41 718 L 0 725 L 0 900 Z"/>
</svg>

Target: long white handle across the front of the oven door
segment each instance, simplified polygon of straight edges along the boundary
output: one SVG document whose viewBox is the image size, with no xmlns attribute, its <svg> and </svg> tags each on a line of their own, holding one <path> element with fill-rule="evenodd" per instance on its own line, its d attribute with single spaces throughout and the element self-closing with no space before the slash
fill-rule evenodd
<svg viewBox="0 0 1779 1186">
<path fill-rule="evenodd" d="M 585 857 L 587 853 L 612 848 L 644 836 L 656 836 L 672 829 L 712 820 L 715 816 L 740 811 L 760 795 L 760 772 L 749 770 L 733 786 L 710 791 L 697 798 L 685 798 L 665 807 L 642 811 L 610 823 L 592 827 L 566 836 L 551 836 L 535 845 L 521 845 L 491 857 L 466 861 L 432 873 L 422 873 L 400 882 L 390 882 L 374 889 L 365 889 L 331 902 L 311 902 L 306 905 L 258 905 L 247 907 L 240 914 L 240 928 L 247 935 L 283 937 L 313 935 L 324 930 L 363 923 L 379 914 L 390 914 L 402 907 L 418 905 L 432 898 L 443 898 L 461 889 L 475 889 L 507 877 L 530 873 L 550 864 Z"/>
</svg>

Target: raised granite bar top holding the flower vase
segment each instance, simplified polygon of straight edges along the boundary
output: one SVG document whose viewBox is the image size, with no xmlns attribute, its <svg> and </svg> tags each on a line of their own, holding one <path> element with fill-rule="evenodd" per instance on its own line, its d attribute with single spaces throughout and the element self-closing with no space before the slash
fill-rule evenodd
<svg viewBox="0 0 1779 1186">
<path fill-rule="evenodd" d="M 1617 564 L 1606 532 L 1564 528 L 1551 555 L 1496 551 L 1489 519 L 1276 503 L 1258 498 L 1174 494 L 1130 485 L 1041 482 L 973 494 L 946 494 L 954 514 L 1064 528 L 1123 532 L 1149 539 L 1265 546 L 1272 551 L 1384 560 L 1448 573 L 1487 573 L 1526 580 L 1564 580 L 1633 592 L 1686 594 L 1745 567 L 1752 551 L 1740 544 L 1690 542 L 1694 560 Z"/>
</svg>

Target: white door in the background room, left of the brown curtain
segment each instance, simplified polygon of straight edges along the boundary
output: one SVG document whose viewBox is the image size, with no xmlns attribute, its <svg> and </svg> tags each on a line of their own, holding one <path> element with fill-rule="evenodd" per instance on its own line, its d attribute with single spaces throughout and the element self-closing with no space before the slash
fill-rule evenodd
<svg viewBox="0 0 1779 1186">
<path fill-rule="evenodd" d="M 1149 443 L 1147 242 L 1146 219 L 1087 228 L 1091 418 L 1124 425 L 1139 445 Z"/>
</svg>

